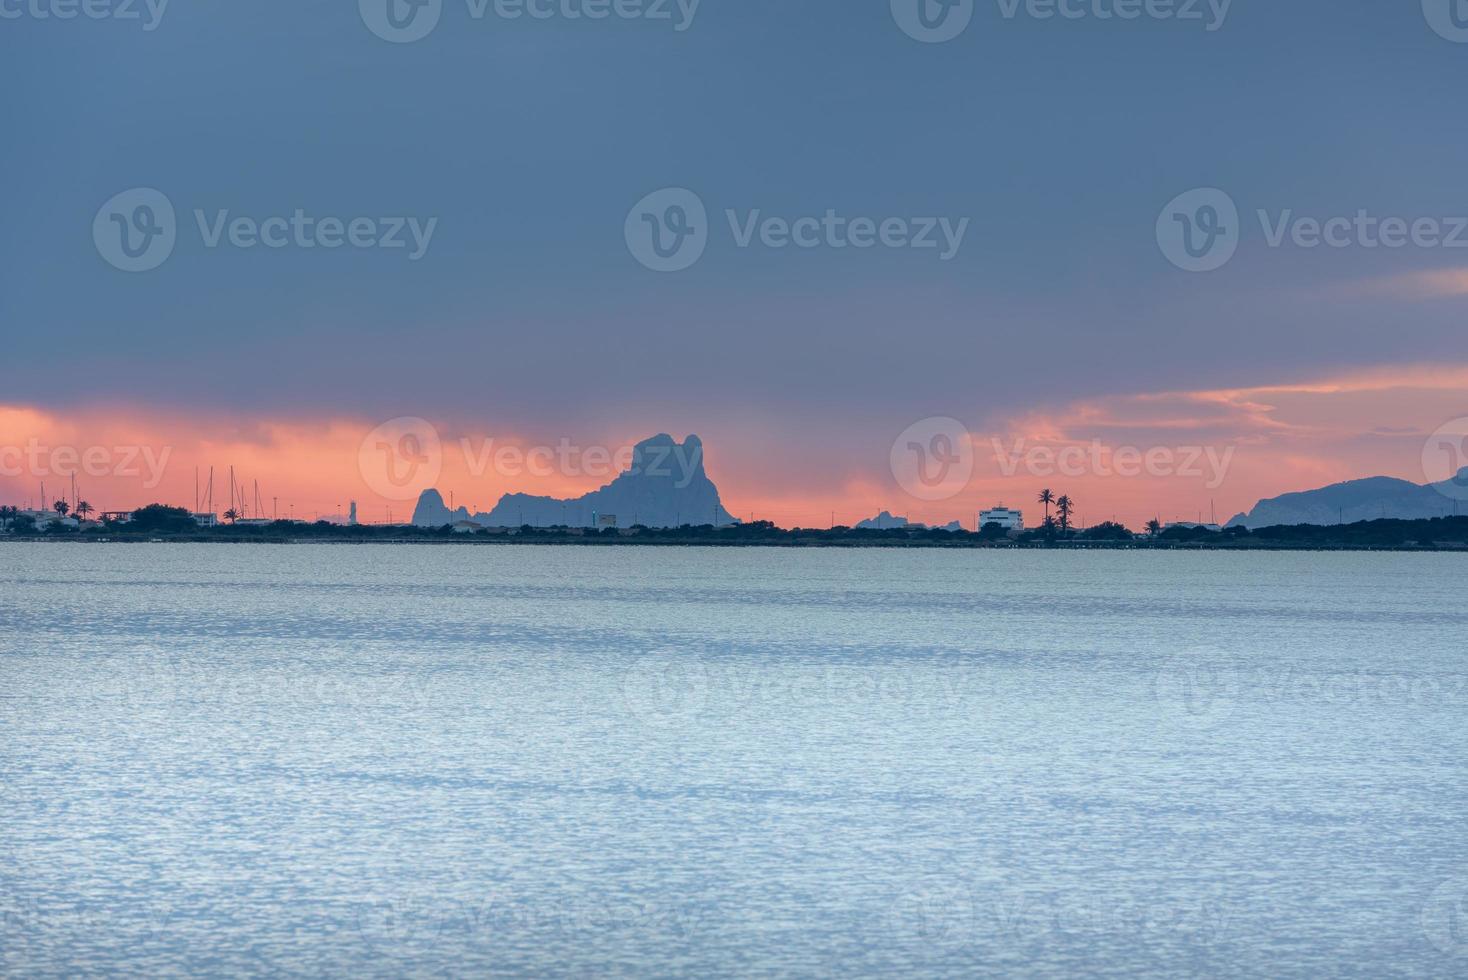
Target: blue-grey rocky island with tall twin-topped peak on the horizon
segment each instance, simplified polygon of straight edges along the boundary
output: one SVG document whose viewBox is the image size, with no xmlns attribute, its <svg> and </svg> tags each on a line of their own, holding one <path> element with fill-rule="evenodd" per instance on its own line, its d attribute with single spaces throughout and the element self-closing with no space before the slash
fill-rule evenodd
<svg viewBox="0 0 1468 980">
<path fill-rule="evenodd" d="M 630 469 L 580 497 L 561 500 L 506 493 L 489 513 L 470 515 L 467 508 L 451 511 L 445 506 L 437 490 L 424 490 L 413 512 L 418 527 L 459 521 L 483 527 L 593 527 L 605 518 L 617 518 L 617 525 L 624 528 L 634 524 L 649 528 L 738 524 L 724 509 L 718 487 L 703 469 L 703 442 L 688 436 L 678 443 L 666 433 L 637 443 Z"/>
</svg>

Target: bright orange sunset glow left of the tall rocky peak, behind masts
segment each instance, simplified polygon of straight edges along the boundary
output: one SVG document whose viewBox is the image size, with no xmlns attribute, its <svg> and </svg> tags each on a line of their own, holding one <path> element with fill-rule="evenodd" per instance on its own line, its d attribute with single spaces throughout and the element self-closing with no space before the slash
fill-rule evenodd
<svg viewBox="0 0 1468 980">
<path fill-rule="evenodd" d="M 437 428 L 433 469 L 399 493 L 379 493 L 385 465 L 364 439 L 363 420 L 238 423 L 156 412 L 48 412 L 0 406 L 0 497 L 28 506 L 76 496 L 98 511 L 153 502 L 208 508 L 233 502 L 250 516 L 327 518 L 358 503 L 363 521 L 404 521 L 418 491 L 487 511 L 501 494 L 574 496 L 609 483 L 631 455 L 631 440 L 537 447 L 517 434 Z M 564 442 L 564 445 L 561 445 Z M 537 452 L 531 452 L 537 449 Z M 230 471 L 236 491 L 230 494 Z M 210 474 L 213 472 L 213 480 Z M 44 489 L 44 503 L 43 503 Z"/>
</svg>

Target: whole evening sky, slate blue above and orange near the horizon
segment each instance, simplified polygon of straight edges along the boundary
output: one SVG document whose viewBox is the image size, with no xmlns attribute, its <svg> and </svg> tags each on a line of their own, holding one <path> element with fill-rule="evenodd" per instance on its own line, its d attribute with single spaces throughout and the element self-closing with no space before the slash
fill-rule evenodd
<svg viewBox="0 0 1468 980">
<path fill-rule="evenodd" d="M 483 509 L 661 431 L 806 527 L 1445 475 L 1468 9 L 918 1 L 0 0 L 0 499 L 388 519 L 399 418 Z"/>
</svg>

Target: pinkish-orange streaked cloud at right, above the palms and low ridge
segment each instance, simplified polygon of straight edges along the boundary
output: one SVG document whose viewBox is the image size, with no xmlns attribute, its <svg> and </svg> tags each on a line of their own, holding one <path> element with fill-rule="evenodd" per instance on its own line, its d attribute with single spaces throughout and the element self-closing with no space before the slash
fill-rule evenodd
<svg viewBox="0 0 1468 980">
<path fill-rule="evenodd" d="M 1036 477 L 1082 503 L 1088 521 L 1141 524 L 1220 519 L 1258 499 L 1368 475 L 1425 481 L 1422 446 L 1443 423 L 1468 415 L 1468 367 L 1373 368 L 1296 384 L 1154 392 L 1078 402 L 1000 420 L 978 439 L 975 487 L 1025 500 Z M 1023 450 L 1085 450 L 1069 472 L 1020 467 Z M 1101 464 L 1092 455 L 1101 447 Z M 1136 477 L 1107 462 L 1122 449 L 1158 453 Z M 1201 450 L 1201 456 L 1193 458 Z M 1188 461 L 1191 459 L 1189 465 Z M 988 464 L 988 465 L 985 465 Z M 1025 484 L 1020 489 L 1020 484 Z M 1038 484 L 1036 484 L 1038 486 Z"/>
</svg>

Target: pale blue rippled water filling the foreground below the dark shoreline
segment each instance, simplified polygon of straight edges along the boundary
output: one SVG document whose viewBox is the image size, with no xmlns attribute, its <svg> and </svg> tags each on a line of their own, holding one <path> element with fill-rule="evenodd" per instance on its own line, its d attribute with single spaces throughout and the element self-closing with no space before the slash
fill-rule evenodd
<svg viewBox="0 0 1468 980">
<path fill-rule="evenodd" d="M 0 968 L 1464 976 L 1465 571 L 0 546 Z"/>
</svg>

